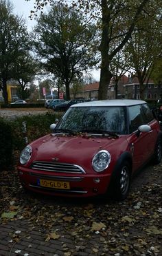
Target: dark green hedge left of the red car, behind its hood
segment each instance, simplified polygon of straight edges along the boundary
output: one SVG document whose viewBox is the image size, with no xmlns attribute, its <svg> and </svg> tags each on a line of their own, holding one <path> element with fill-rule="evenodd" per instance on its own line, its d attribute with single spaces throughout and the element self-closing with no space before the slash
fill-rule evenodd
<svg viewBox="0 0 162 256">
<path fill-rule="evenodd" d="M 49 126 L 60 119 L 60 113 L 47 113 L 33 116 L 23 116 L 14 120 L 0 118 L 0 169 L 8 169 L 14 163 L 15 158 L 25 147 L 25 136 L 28 142 L 32 142 L 51 131 Z M 23 125 L 26 123 L 27 134 L 23 134 Z M 14 152 L 14 153 L 13 153 Z M 15 153 L 16 152 L 16 153 Z M 13 157 L 12 157 L 13 155 Z"/>
</svg>

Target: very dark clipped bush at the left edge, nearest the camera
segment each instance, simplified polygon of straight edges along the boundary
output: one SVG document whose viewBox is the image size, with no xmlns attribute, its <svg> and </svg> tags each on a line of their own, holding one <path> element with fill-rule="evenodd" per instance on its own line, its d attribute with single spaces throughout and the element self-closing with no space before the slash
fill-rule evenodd
<svg viewBox="0 0 162 256">
<path fill-rule="evenodd" d="M 0 118 L 0 141 L 0 169 L 8 169 L 12 165 L 12 129 L 3 118 Z"/>
</svg>

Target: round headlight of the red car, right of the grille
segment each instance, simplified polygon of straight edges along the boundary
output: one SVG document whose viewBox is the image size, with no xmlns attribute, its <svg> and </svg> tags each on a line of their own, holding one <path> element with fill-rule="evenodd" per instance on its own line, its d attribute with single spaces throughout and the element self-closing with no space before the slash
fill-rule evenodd
<svg viewBox="0 0 162 256">
<path fill-rule="evenodd" d="M 93 169 L 97 172 L 104 171 L 111 162 L 111 154 L 106 150 L 101 150 L 95 154 L 92 160 Z"/>
</svg>

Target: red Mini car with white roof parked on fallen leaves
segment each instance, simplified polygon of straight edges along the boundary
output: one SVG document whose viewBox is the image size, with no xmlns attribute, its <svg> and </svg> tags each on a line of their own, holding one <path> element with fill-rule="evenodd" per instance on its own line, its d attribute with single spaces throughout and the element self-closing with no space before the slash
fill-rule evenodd
<svg viewBox="0 0 162 256">
<path fill-rule="evenodd" d="M 21 183 L 36 193 L 124 200 L 132 174 L 161 162 L 159 121 L 142 100 L 72 105 L 51 129 L 20 156 Z"/>
</svg>

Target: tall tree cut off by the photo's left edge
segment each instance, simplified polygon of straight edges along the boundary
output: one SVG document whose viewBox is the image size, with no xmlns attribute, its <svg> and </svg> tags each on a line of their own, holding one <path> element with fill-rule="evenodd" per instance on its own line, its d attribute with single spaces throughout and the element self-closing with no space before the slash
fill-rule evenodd
<svg viewBox="0 0 162 256">
<path fill-rule="evenodd" d="M 0 79 L 5 103 L 8 103 L 7 81 L 12 67 L 25 50 L 29 39 L 23 19 L 12 13 L 10 1 L 0 0 Z"/>
</svg>

